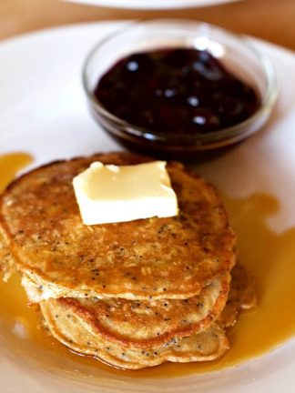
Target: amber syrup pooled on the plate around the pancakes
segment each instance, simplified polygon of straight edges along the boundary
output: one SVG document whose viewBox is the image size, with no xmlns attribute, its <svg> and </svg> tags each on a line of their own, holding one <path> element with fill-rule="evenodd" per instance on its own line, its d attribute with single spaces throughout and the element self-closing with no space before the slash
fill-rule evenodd
<svg viewBox="0 0 295 393">
<path fill-rule="evenodd" d="M 26 155 L 2 156 L 0 173 L 5 173 L 1 186 L 29 163 Z M 239 261 L 255 278 L 258 307 L 243 312 L 229 332 L 230 349 L 215 362 L 165 364 L 157 368 L 123 371 L 109 368 L 93 358 L 77 356 L 46 335 L 40 328 L 36 307 L 27 307 L 19 277 L 0 283 L 0 333 L 7 338 L 10 350 L 30 358 L 38 353 L 38 366 L 58 374 L 75 374 L 81 378 L 99 378 L 106 373 L 135 378 L 171 378 L 228 368 L 275 348 L 295 335 L 295 227 L 274 233 L 268 218 L 280 211 L 272 196 L 257 194 L 245 199 L 224 196 L 232 226 L 237 232 Z M 25 335 L 17 333 L 21 326 Z M 25 345 L 27 344 L 27 345 Z M 41 355 L 42 354 L 42 355 Z"/>
</svg>

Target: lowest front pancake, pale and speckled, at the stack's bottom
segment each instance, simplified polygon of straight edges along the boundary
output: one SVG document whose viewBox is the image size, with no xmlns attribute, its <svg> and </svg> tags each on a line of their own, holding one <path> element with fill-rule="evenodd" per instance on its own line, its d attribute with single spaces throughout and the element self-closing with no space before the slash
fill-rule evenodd
<svg viewBox="0 0 295 393">
<path fill-rule="evenodd" d="M 172 339 L 166 345 L 126 348 L 95 334 L 83 318 L 75 312 L 69 313 L 63 303 L 50 299 L 40 305 L 46 327 L 58 341 L 78 354 L 93 356 L 117 368 L 147 368 L 166 361 L 209 361 L 219 358 L 229 348 L 224 329 L 215 325 L 188 338 Z"/>
</svg>

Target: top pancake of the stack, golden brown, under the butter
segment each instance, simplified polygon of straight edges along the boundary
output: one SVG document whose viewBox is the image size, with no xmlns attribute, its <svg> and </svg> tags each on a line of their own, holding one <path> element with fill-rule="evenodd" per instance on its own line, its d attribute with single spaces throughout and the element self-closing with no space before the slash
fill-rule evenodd
<svg viewBox="0 0 295 393">
<path fill-rule="evenodd" d="M 16 268 L 49 288 L 48 297 L 186 298 L 230 270 L 235 237 L 219 196 L 178 163 L 168 163 L 177 217 L 84 225 L 72 179 L 93 161 L 148 158 L 113 153 L 55 162 L 19 177 L 0 199 Z"/>
</svg>

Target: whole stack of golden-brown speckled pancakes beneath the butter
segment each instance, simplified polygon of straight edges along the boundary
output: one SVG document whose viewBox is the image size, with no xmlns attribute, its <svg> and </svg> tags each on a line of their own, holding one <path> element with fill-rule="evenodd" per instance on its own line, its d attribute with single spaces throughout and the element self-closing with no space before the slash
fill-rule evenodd
<svg viewBox="0 0 295 393">
<path fill-rule="evenodd" d="M 0 199 L 0 266 L 21 273 L 46 327 L 80 354 L 130 369 L 219 358 L 226 328 L 255 297 L 234 267 L 235 236 L 215 189 L 170 162 L 177 217 L 97 226 L 80 217 L 74 176 L 94 161 L 147 160 L 79 157 L 16 179 Z"/>
</svg>

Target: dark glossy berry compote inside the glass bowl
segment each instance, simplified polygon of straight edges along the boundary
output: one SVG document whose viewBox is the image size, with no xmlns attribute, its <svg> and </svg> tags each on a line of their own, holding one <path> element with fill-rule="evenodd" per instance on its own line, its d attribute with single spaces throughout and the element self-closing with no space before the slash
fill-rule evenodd
<svg viewBox="0 0 295 393">
<path fill-rule="evenodd" d="M 128 55 L 100 78 L 94 95 L 120 119 L 174 135 L 234 126 L 260 105 L 253 87 L 208 51 L 195 48 Z"/>
</svg>

